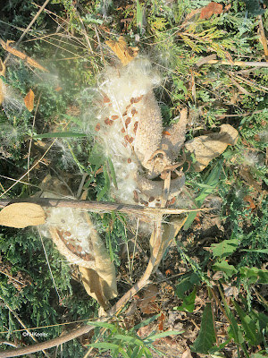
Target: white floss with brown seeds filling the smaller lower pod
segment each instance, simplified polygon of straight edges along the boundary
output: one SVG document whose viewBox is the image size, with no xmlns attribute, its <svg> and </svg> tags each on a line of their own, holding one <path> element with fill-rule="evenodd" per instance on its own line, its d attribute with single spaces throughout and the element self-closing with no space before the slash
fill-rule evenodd
<svg viewBox="0 0 268 358">
<path fill-rule="evenodd" d="M 82 260 L 94 260 L 90 241 L 93 227 L 85 220 L 82 210 L 47 208 L 46 225 L 50 230 L 55 230 L 66 248 L 74 255 Z"/>
</svg>

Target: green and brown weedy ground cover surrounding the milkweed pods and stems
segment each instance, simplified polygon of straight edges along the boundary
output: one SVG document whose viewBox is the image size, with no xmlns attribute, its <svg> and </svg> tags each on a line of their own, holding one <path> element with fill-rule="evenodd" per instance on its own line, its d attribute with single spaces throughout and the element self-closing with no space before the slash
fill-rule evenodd
<svg viewBox="0 0 268 358">
<path fill-rule="evenodd" d="M 187 158 L 180 207 L 210 210 L 188 215 L 152 285 L 123 308 L 118 321 L 100 323 L 94 335 L 47 351 L 49 356 L 101 356 L 98 349 L 126 357 L 160 351 L 171 357 L 267 356 L 266 5 L 54 0 L 29 30 L 42 4 L 4 5 L 1 199 L 54 191 L 50 175 L 64 182 L 65 195 L 113 200 L 113 163 L 98 149 L 89 124 L 96 116 L 99 73 L 114 61 L 105 41 L 119 35 L 161 73 L 155 98 L 165 125 L 188 107 L 188 140 L 221 124 L 239 131 L 237 144 L 204 171 L 193 170 L 195 158 Z M 93 218 L 122 295 L 146 268 L 148 237 L 137 240 L 123 214 Z M 0 243 L 1 349 L 58 337 L 98 317 L 78 268 L 41 231 L 0 226 Z M 25 336 L 25 328 L 43 336 Z M 183 333 L 172 339 L 168 330 Z"/>
</svg>

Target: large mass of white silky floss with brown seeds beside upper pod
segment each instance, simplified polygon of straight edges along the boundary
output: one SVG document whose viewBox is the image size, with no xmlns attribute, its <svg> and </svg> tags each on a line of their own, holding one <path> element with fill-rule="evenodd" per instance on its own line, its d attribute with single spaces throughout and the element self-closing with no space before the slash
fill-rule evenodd
<svg viewBox="0 0 268 358">
<path fill-rule="evenodd" d="M 123 203 L 155 207 L 160 202 L 155 198 L 149 200 L 137 186 L 137 174 L 145 170 L 142 160 L 147 153 L 146 150 L 139 149 L 142 145 L 150 147 L 149 139 L 149 142 L 141 143 L 138 137 L 141 135 L 141 128 L 147 128 L 147 122 L 152 122 L 152 107 L 156 107 L 153 115 L 158 115 L 159 111 L 159 121 L 162 124 L 160 109 L 153 93 L 158 83 L 159 76 L 152 71 L 149 62 L 135 59 L 121 69 L 108 67 L 99 84 L 102 100 L 95 124 L 96 141 L 101 142 L 105 156 L 113 161 L 118 188 L 112 187 L 112 194 Z M 152 125 L 155 130 L 155 124 Z M 161 130 L 160 132 L 162 133 Z"/>
</svg>

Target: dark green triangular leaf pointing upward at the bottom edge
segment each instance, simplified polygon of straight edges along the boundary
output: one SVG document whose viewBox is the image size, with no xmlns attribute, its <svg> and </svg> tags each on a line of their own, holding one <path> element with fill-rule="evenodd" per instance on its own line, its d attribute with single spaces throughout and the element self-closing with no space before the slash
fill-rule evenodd
<svg viewBox="0 0 268 358">
<path fill-rule="evenodd" d="M 200 332 L 191 348 L 193 352 L 208 354 L 208 351 L 214 346 L 215 342 L 216 337 L 214 332 L 212 305 L 211 303 L 206 303 L 202 316 Z"/>
</svg>

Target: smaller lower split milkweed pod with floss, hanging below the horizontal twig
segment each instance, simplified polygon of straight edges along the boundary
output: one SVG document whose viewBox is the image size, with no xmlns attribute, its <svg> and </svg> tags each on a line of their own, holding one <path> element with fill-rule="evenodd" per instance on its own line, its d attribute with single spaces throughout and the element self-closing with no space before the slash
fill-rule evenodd
<svg viewBox="0 0 268 358">
<path fill-rule="evenodd" d="M 116 276 L 105 244 L 88 213 L 81 209 L 46 208 L 46 226 L 62 255 L 79 265 L 88 294 L 105 309 L 116 297 Z"/>
</svg>

